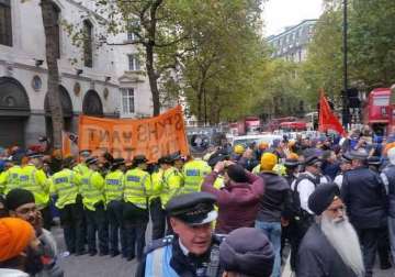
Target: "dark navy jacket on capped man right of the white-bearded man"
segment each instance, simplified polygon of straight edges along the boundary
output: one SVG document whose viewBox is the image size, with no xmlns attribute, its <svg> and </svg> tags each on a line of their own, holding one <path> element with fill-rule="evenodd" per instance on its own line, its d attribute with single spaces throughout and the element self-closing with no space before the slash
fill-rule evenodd
<svg viewBox="0 0 395 277">
<path fill-rule="evenodd" d="M 374 229 L 386 224 L 384 186 L 380 176 L 368 167 L 345 173 L 341 198 L 354 228 Z"/>
</svg>

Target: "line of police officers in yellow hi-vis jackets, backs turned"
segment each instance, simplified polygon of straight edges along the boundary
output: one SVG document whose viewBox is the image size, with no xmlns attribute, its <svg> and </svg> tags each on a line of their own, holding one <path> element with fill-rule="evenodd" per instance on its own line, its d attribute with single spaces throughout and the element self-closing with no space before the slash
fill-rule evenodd
<svg viewBox="0 0 395 277">
<path fill-rule="evenodd" d="M 90 155 L 90 151 L 81 151 L 79 164 L 67 157 L 60 171 L 47 176 L 42 155 L 32 153 L 27 165 L 13 160 L 13 166 L 0 175 L 0 193 L 5 196 L 13 188 L 33 192 L 45 229 L 50 229 L 49 203 L 54 197 L 67 250 L 76 255 L 86 254 L 86 243 L 88 253 L 97 255 L 98 234 L 99 255 L 140 259 L 149 214 L 153 240 L 163 237 L 166 203 L 176 195 L 200 191 L 211 171 L 201 159 L 183 165 L 180 155 L 161 157 L 150 170 L 144 155 L 135 156 L 129 169 L 123 158 L 115 158 L 103 170 L 98 157 Z"/>
</svg>

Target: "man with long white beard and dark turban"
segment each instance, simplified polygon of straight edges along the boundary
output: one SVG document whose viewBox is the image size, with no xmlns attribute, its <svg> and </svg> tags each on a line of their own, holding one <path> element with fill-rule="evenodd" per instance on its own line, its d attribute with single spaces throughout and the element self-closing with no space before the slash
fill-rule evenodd
<svg viewBox="0 0 395 277">
<path fill-rule="evenodd" d="M 364 266 L 358 235 L 346 215 L 336 184 L 324 184 L 308 198 L 317 218 L 297 254 L 297 277 L 362 277 Z"/>
</svg>

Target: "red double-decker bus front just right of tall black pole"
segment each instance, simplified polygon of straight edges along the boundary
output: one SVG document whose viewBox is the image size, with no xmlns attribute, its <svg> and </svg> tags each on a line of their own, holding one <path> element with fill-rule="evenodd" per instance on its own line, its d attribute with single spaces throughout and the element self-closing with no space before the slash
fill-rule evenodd
<svg viewBox="0 0 395 277">
<path fill-rule="evenodd" d="M 392 131 L 390 98 L 390 88 L 376 88 L 369 93 L 368 102 L 363 111 L 363 122 L 369 125 L 375 134 L 385 135 Z"/>
</svg>

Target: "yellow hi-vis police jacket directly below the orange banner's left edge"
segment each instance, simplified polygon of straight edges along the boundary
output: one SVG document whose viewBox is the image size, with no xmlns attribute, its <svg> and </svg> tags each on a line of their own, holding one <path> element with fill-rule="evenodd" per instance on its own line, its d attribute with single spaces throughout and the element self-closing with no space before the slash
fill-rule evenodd
<svg viewBox="0 0 395 277">
<path fill-rule="evenodd" d="M 81 196 L 83 207 L 95 211 L 95 204 L 104 203 L 104 179 L 100 173 L 88 169 L 81 177 Z"/>
</svg>

